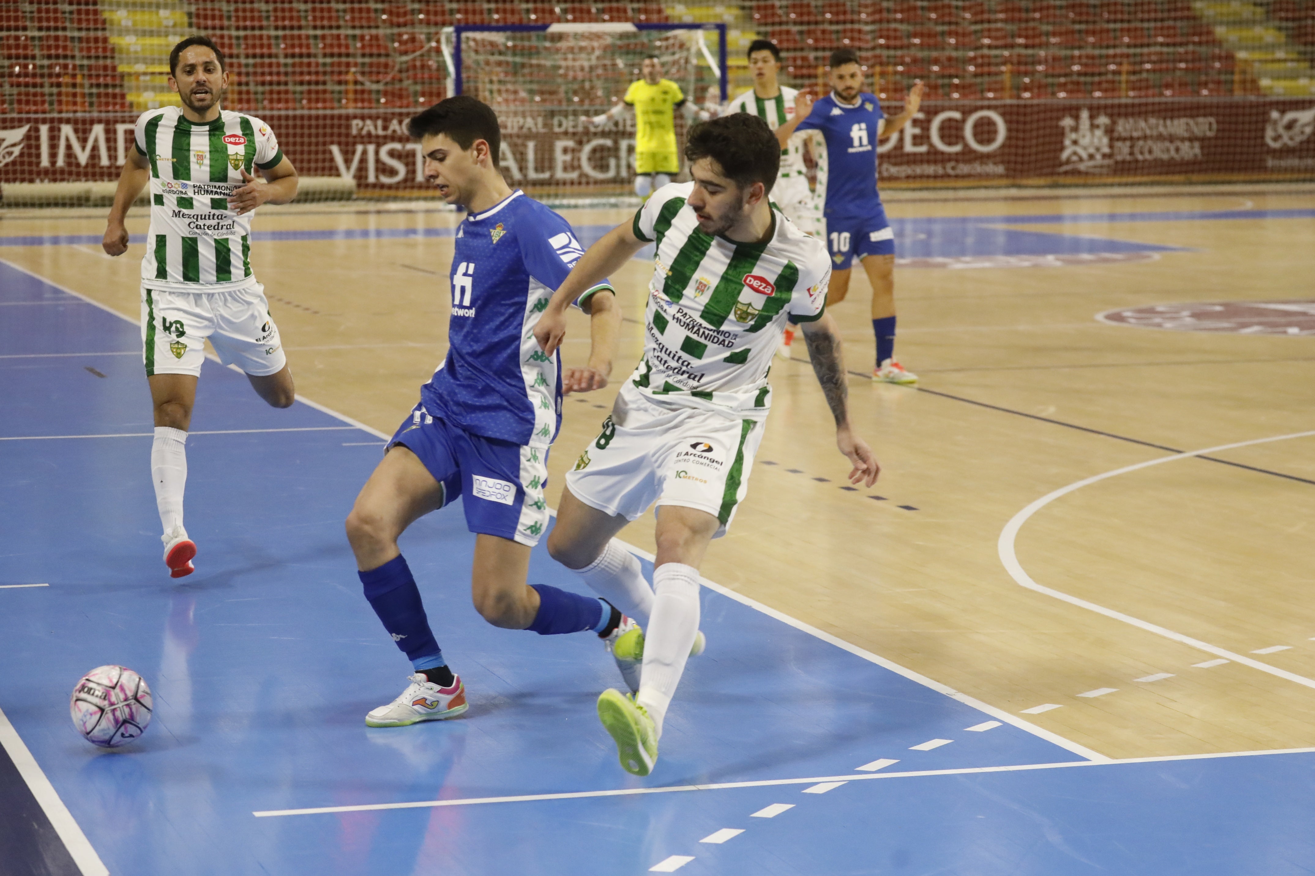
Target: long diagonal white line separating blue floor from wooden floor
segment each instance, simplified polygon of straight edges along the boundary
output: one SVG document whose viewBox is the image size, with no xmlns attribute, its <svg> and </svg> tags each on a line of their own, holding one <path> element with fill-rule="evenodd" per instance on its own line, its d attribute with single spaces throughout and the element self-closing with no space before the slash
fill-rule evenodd
<svg viewBox="0 0 1315 876">
<path fill-rule="evenodd" d="M 107 305 L 103 305 L 103 303 L 100 303 L 97 301 L 93 301 L 93 299 L 88 298 L 87 296 L 83 296 L 82 293 L 74 292 L 71 289 L 60 286 L 59 284 L 51 282 L 50 280 L 42 277 L 41 274 L 33 273 L 33 272 L 28 271 L 26 268 L 22 268 L 20 265 L 13 264 L 12 261 L 8 261 L 5 259 L 0 259 L 0 261 L 3 261 L 4 264 L 8 264 L 9 267 L 12 267 L 16 271 L 21 271 L 22 273 L 28 274 L 29 277 L 33 277 L 34 280 L 39 280 L 41 282 L 45 282 L 45 284 L 47 284 L 47 285 L 50 285 L 50 286 L 53 286 L 55 289 L 59 289 L 60 292 L 64 292 L 64 293 L 67 293 L 67 294 L 70 294 L 70 296 L 72 296 L 75 298 L 80 298 L 82 301 L 85 301 L 87 303 L 95 305 L 96 307 L 100 307 L 105 313 L 113 314 L 114 317 L 118 317 L 120 319 L 122 319 L 122 320 L 125 320 L 128 323 L 132 323 L 132 324 L 135 326 L 139 322 L 138 319 L 135 319 L 133 317 L 128 317 L 125 314 L 118 313 L 113 307 L 109 307 Z M 213 361 L 218 361 L 218 357 L 216 357 L 212 353 L 206 353 L 206 356 L 209 359 L 212 359 Z M 238 373 L 242 372 L 242 369 L 239 369 L 237 365 L 230 365 L 229 368 L 231 368 L 233 370 L 235 370 Z M 373 427 L 366 426 L 360 420 L 352 419 L 352 418 L 347 416 L 346 414 L 335 411 L 331 407 L 326 407 L 325 405 L 314 402 L 314 401 L 312 401 L 309 398 L 305 398 L 302 395 L 297 395 L 297 401 L 301 402 L 302 405 L 309 405 L 310 407 L 316 408 L 317 411 L 321 411 L 322 414 L 327 414 L 329 416 L 333 416 L 333 418 L 338 419 L 338 420 L 342 420 L 343 423 L 348 423 L 348 424 L 359 428 L 360 431 L 367 432 L 370 435 L 373 435 L 373 436 L 376 436 L 376 437 L 379 437 L 379 439 L 381 439 L 384 441 L 387 441 L 391 437 L 389 435 L 385 435 L 384 432 L 380 432 L 379 429 L 376 429 Z M 556 514 L 556 511 L 552 510 L 552 508 L 548 508 L 548 512 L 554 514 L 554 515 Z M 625 541 L 621 541 L 619 538 L 617 541 L 621 542 L 621 545 L 625 546 L 626 550 L 629 550 L 630 553 L 635 554 L 636 557 L 643 557 L 643 558 L 648 559 L 650 562 L 652 562 L 655 559 L 655 557 L 651 553 L 648 553 L 647 550 L 642 550 L 642 549 L 639 549 L 639 548 L 636 548 L 634 545 L 626 544 Z M 1051 730 L 1047 730 L 1045 728 L 1038 726 L 1038 725 L 1035 725 L 1035 724 L 1032 724 L 1030 721 L 1026 721 L 1026 720 L 1023 720 L 1023 718 L 1020 718 L 1018 716 L 1010 714 L 1009 712 L 1005 712 L 1003 709 L 998 709 L 994 705 L 989 705 L 986 703 L 982 703 L 981 700 L 978 700 L 976 697 L 972 697 L 972 696 L 968 696 L 967 693 L 960 693 L 959 691 L 956 691 L 955 688 L 949 687 L 948 684 L 942 684 L 940 682 L 930 679 L 926 675 L 922 675 L 919 672 L 914 672 L 910 668 L 905 668 L 903 666 L 901 666 L 901 665 L 898 665 L 898 663 L 896 663 L 893 661 L 888 661 L 886 658 L 878 657 L 877 654 L 873 654 L 869 650 L 859 647 L 857 645 L 852 645 L 852 644 L 844 641 L 843 638 L 839 638 L 836 636 L 832 636 L 831 633 L 823 632 L 823 630 L 818 629 L 817 626 L 811 626 L 809 624 L 805 624 L 801 620 L 790 617 L 785 612 L 780 612 L 780 611 L 777 611 L 775 608 L 764 605 L 763 603 L 757 602 L 756 599 L 750 599 L 748 596 L 738 594 L 734 590 L 730 590 L 727 587 L 722 587 L 717 582 L 709 580 L 707 578 L 700 578 L 700 582 L 705 587 L 707 587 L 709 590 L 711 590 L 714 592 L 718 592 L 722 596 L 727 596 L 730 599 L 734 599 L 735 602 L 738 602 L 738 603 L 740 603 L 743 605 L 748 605 L 750 608 L 752 608 L 752 609 L 755 609 L 755 611 L 757 611 L 757 612 L 760 612 L 763 615 L 767 615 L 768 617 L 773 617 L 773 619 L 781 621 L 782 624 L 788 624 L 789 626 L 793 626 L 794 629 L 798 629 L 798 630 L 801 630 L 803 633 L 807 633 L 809 636 L 813 636 L 814 638 L 821 638 L 823 642 L 834 645 L 834 646 L 836 646 L 836 647 L 839 647 L 842 650 L 849 651 L 855 657 L 861 657 L 863 659 L 868 661 L 869 663 L 876 663 L 877 666 L 880 666 L 882 668 L 886 668 L 886 670 L 890 670 L 892 672 L 896 672 L 897 675 L 902 675 L 903 678 L 909 679 L 910 682 L 915 682 L 918 684 L 922 684 L 923 687 L 928 687 L 928 688 L 936 691 L 938 693 L 944 693 L 945 696 L 951 697 L 952 700 L 956 700 L 959 703 L 963 703 L 964 705 L 974 708 L 978 712 L 985 712 L 986 714 L 992 716 L 993 718 L 997 718 L 999 721 L 1010 724 L 1010 725 L 1018 728 L 1019 730 L 1024 730 L 1026 733 L 1031 733 L 1035 737 L 1040 737 L 1041 739 L 1045 739 L 1047 742 L 1051 742 L 1053 745 L 1060 746 L 1065 751 L 1072 751 L 1073 754 L 1076 754 L 1076 755 L 1078 755 L 1081 758 L 1089 758 L 1091 760 L 1107 760 L 1109 759 L 1109 758 L 1106 758 L 1103 754 L 1101 754 L 1098 751 L 1093 751 L 1091 749 L 1088 749 L 1084 745 L 1078 745 L 1077 742 L 1073 742 L 1070 739 L 1065 739 L 1064 737 L 1061 737 L 1057 733 L 1053 733 Z"/>
</svg>

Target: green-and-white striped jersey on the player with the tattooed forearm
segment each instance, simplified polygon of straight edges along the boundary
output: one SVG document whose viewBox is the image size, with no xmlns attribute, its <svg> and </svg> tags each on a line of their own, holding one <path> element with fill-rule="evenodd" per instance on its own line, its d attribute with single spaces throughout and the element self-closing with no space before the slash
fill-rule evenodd
<svg viewBox="0 0 1315 876">
<path fill-rule="evenodd" d="M 656 252 L 644 357 L 631 380 L 656 405 L 764 419 L 767 372 L 786 317 L 822 317 L 831 259 L 776 209 L 764 243 L 704 234 L 685 204 L 693 188 L 664 185 L 635 213 L 635 236 Z"/>
</svg>

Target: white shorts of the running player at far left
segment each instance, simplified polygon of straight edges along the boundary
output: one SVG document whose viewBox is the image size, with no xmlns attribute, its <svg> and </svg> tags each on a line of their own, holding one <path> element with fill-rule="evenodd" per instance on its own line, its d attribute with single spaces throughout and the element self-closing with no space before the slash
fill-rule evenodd
<svg viewBox="0 0 1315 876">
<path fill-rule="evenodd" d="M 260 284 L 234 292 L 160 292 L 142 286 L 142 361 L 147 377 L 200 377 L 206 338 L 221 362 L 235 364 L 251 377 L 275 374 L 288 361 Z"/>
</svg>

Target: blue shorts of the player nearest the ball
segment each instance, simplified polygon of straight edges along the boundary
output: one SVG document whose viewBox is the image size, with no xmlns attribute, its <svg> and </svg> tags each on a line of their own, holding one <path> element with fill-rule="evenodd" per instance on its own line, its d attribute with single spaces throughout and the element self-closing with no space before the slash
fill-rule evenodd
<svg viewBox="0 0 1315 876">
<path fill-rule="evenodd" d="M 444 506 L 466 495 L 462 507 L 471 532 L 531 548 L 539 544 L 548 525 L 548 503 L 543 498 L 548 448 L 472 435 L 431 416 L 423 405 L 417 405 L 388 440 L 388 448 L 396 444 L 419 457 L 443 485 Z"/>
</svg>

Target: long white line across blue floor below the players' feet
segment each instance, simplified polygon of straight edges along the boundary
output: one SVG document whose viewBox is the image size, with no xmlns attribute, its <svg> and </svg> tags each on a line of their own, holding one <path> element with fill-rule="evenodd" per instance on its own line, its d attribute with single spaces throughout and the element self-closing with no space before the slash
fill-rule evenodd
<svg viewBox="0 0 1315 876">
<path fill-rule="evenodd" d="M 959 775 L 973 775 L 978 772 L 1030 772 L 1032 770 L 1061 770 L 1069 767 L 1116 767 L 1128 766 L 1136 763 L 1170 763 L 1174 760 L 1218 760 L 1224 758 L 1253 758 L 1264 755 L 1276 754 L 1315 754 L 1315 749 L 1273 749 L 1268 751 L 1223 751 L 1219 754 L 1170 754 L 1155 758 L 1124 758 L 1120 760 L 1114 760 L 1105 758 L 1103 760 L 1063 760 L 1060 763 L 1024 763 L 1009 767 L 960 767 L 955 770 L 918 770 L 909 772 L 868 772 L 864 775 L 847 775 L 847 776 L 813 776 L 810 779 L 764 779 L 759 781 L 726 781 L 721 784 L 706 784 L 706 785 L 663 785 L 658 788 L 617 788 L 609 791 L 575 791 L 569 793 L 535 793 L 535 795 L 521 795 L 515 797 L 466 797 L 454 800 L 417 800 L 412 802 L 372 802 L 363 804 L 359 806 L 320 806 L 314 809 L 267 809 L 263 812 L 252 812 L 251 814 L 256 818 L 270 818 L 280 816 L 321 816 L 321 814 L 334 814 L 342 812 L 380 812 L 384 809 L 434 809 L 442 806 L 473 806 L 481 804 L 494 804 L 494 802 L 537 802 L 542 800 L 583 800 L 590 797 L 627 797 L 638 795 L 650 793 L 671 793 L 679 791 L 725 791 L 729 788 L 769 788 L 778 785 L 801 785 L 811 784 L 814 787 L 821 787 L 822 784 L 844 784 L 847 781 L 869 781 L 876 779 L 915 779 L 926 776 L 959 776 Z M 835 787 L 835 785 L 832 785 Z M 827 788 L 830 791 L 830 788 Z M 821 792 L 814 792 L 821 793 Z M 773 804 L 767 809 L 775 806 L 781 806 L 785 804 Z M 788 808 L 788 806 L 786 806 Z M 761 809 L 759 812 L 767 812 Z M 785 812 L 780 809 L 778 812 Z M 757 816 L 759 813 L 753 813 Z M 777 814 L 777 813 L 773 813 Z M 759 816 L 761 818 L 771 818 L 771 816 Z"/>
</svg>

